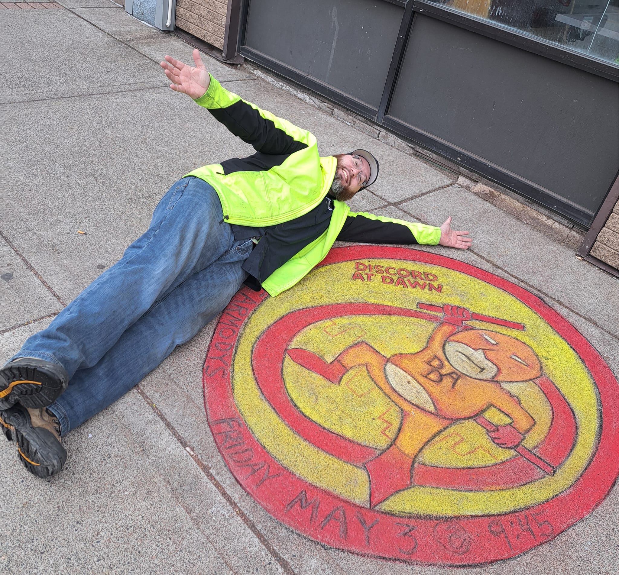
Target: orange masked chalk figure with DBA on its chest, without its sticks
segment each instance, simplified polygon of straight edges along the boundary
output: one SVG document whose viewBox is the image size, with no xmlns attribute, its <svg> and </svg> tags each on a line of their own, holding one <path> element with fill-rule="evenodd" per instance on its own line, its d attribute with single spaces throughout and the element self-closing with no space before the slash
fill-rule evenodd
<svg viewBox="0 0 619 575">
<path fill-rule="evenodd" d="M 370 344 L 359 342 L 327 363 L 308 350 L 288 350 L 295 363 L 335 385 L 348 370 L 365 366 L 373 381 L 402 409 L 404 417 L 394 443 L 365 464 L 371 507 L 410 486 L 413 460 L 452 423 L 495 407 L 512 423 L 488 431 L 488 436 L 506 449 L 519 446 L 535 424 L 517 397 L 501 387 L 501 382 L 529 381 L 541 375 L 532 348 L 509 335 L 463 326 L 471 319 L 468 309 L 445 305 L 443 313 L 443 322 L 417 353 L 387 358 Z"/>
</svg>

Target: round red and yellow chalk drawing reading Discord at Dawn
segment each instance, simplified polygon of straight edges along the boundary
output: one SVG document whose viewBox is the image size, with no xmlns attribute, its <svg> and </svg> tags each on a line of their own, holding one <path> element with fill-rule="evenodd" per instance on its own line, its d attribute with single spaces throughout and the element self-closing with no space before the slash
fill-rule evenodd
<svg viewBox="0 0 619 575">
<path fill-rule="evenodd" d="M 276 298 L 243 288 L 204 365 L 210 429 L 275 519 L 436 565 L 548 542 L 619 473 L 604 360 L 542 300 L 415 249 L 332 249 Z"/>
</svg>

